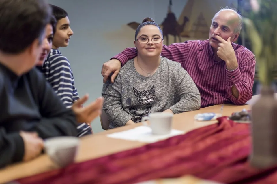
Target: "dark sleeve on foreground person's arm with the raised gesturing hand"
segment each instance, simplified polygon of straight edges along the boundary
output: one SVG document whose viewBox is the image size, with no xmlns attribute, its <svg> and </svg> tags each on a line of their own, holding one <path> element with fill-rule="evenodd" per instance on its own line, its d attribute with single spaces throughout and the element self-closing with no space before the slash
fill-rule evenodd
<svg viewBox="0 0 277 184">
<path fill-rule="evenodd" d="M 29 74 L 31 90 L 42 116 L 32 131 L 36 131 L 42 139 L 55 136 L 77 136 L 76 116 L 71 108 L 63 105 L 61 99 L 37 69 L 33 69 Z"/>
</svg>

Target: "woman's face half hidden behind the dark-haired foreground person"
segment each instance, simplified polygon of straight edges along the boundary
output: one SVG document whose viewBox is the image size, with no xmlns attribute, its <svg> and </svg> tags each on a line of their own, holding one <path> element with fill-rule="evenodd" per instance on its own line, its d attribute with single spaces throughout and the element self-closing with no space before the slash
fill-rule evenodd
<svg viewBox="0 0 277 184">
<path fill-rule="evenodd" d="M 42 41 L 42 52 L 40 53 L 40 58 L 39 62 L 37 63 L 37 66 L 42 66 L 44 64 L 44 61 L 52 48 L 53 27 L 51 24 L 46 25 L 45 33 L 46 37 Z"/>
</svg>

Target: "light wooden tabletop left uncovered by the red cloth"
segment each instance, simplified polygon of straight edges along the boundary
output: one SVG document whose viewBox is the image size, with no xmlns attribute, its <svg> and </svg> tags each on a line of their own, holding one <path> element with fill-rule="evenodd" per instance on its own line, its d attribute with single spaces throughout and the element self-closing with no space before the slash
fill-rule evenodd
<svg viewBox="0 0 277 184">
<path fill-rule="evenodd" d="M 200 127 L 204 127 L 210 124 L 216 123 L 216 121 L 209 122 L 197 122 L 194 121 L 194 115 L 204 112 L 220 113 L 222 105 L 210 106 L 202 108 L 197 111 L 184 112 L 173 116 L 173 129 L 191 131 Z M 242 109 L 250 109 L 250 105 L 235 106 L 231 104 L 223 105 L 223 116 L 230 116 L 232 112 L 241 111 Z M 186 123 L 184 123 L 184 120 Z M 135 125 L 129 125 L 126 127 L 119 127 L 112 130 L 97 133 L 91 136 L 81 138 L 80 151 L 76 157 L 76 162 L 83 162 L 106 156 L 112 153 L 121 152 L 124 150 L 141 147 L 147 143 L 138 141 L 127 141 L 121 139 L 113 139 L 106 136 L 106 134 L 128 130 L 136 126 L 141 126 L 141 123 Z M 5 169 L 0 170 L 0 183 L 16 180 L 22 177 L 27 177 L 39 173 L 43 173 L 49 170 L 58 168 L 47 155 L 42 155 L 26 163 L 19 163 L 8 166 Z"/>
</svg>

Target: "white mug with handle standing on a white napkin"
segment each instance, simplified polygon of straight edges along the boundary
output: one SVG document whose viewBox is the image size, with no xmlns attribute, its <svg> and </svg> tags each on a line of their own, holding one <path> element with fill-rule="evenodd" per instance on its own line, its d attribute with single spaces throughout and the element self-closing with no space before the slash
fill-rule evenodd
<svg viewBox="0 0 277 184">
<path fill-rule="evenodd" d="M 154 135 L 164 135 L 169 134 L 172 129 L 172 117 L 173 114 L 169 112 L 153 112 L 148 116 L 145 116 L 141 119 L 141 122 L 145 126 L 149 126 L 152 129 L 152 134 Z M 150 124 L 148 125 L 147 121 L 149 120 Z"/>
</svg>

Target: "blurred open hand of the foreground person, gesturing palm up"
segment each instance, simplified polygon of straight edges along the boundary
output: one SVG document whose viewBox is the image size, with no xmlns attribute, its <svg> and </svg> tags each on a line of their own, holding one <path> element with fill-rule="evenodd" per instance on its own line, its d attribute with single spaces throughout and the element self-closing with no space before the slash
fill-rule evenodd
<svg viewBox="0 0 277 184">
<path fill-rule="evenodd" d="M 97 116 L 102 113 L 103 98 L 98 98 L 88 106 L 82 105 L 89 99 L 89 95 L 85 95 L 78 101 L 75 101 L 72 110 L 76 115 L 78 123 L 86 123 L 90 125 Z"/>
</svg>

